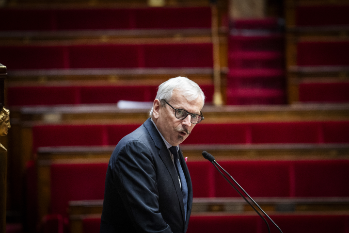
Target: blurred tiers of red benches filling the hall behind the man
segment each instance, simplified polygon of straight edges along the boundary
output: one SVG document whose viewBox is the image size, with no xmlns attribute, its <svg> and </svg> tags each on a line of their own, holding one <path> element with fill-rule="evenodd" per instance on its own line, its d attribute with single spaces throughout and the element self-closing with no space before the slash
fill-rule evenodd
<svg viewBox="0 0 349 233">
<path fill-rule="evenodd" d="M 349 232 L 348 0 L 0 0 L 6 233 L 98 233 L 111 152 L 160 83 L 203 89 L 188 233 Z M 270 224 L 271 232 L 278 232 Z"/>
</svg>

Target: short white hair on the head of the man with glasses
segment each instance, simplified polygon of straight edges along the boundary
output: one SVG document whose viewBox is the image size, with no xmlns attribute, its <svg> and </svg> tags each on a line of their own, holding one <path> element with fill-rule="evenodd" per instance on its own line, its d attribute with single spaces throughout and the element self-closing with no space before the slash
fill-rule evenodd
<svg viewBox="0 0 349 233">
<path fill-rule="evenodd" d="M 164 106 L 166 103 L 161 100 L 170 101 L 174 89 L 179 90 L 187 100 L 196 100 L 199 95 L 205 104 L 205 95 L 200 86 L 186 77 L 176 77 L 161 83 L 155 99 L 160 100 L 160 104 Z M 153 108 L 150 110 L 150 116 L 153 116 Z"/>
</svg>

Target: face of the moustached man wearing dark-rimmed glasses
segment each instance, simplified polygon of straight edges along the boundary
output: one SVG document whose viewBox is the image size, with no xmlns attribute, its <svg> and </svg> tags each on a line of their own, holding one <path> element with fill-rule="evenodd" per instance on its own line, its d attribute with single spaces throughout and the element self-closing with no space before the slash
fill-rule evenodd
<svg viewBox="0 0 349 233">
<path fill-rule="evenodd" d="M 189 101 L 176 89 L 174 89 L 172 99 L 168 103 L 176 109 L 184 109 L 198 115 L 200 115 L 200 111 L 203 107 L 203 100 L 200 95 L 196 100 Z M 161 107 L 159 100 L 154 101 L 153 117 L 157 119 L 155 122 L 158 130 L 167 142 L 172 146 L 177 146 L 189 136 L 195 124 L 190 122 L 190 115 L 180 120 L 174 116 L 174 112 L 175 110 L 168 104 Z"/>
</svg>

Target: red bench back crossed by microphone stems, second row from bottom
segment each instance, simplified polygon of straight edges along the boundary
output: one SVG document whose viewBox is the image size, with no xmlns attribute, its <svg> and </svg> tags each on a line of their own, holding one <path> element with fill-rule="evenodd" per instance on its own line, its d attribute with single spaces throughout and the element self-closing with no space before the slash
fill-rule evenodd
<svg viewBox="0 0 349 233">
<path fill-rule="evenodd" d="M 194 162 L 193 162 L 194 163 Z M 348 197 L 348 160 L 218 161 L 251 197 Z M 213 166 L 212 166 L 213 167 Z M 214 168 L 214 167 L 213 167 Z M 209 170 L 209 174 L 212 171 Z M 193 174 L 191 177 L 201 176 Z M 204 177 L 198 181 L 208 183 Z M 240 197 L 214 171 L 214 197 Z M 198 185 L 199 186 L 199 185 Z"/>
</svg>

